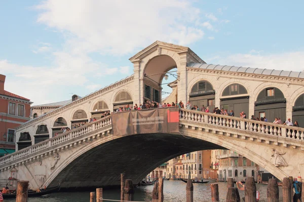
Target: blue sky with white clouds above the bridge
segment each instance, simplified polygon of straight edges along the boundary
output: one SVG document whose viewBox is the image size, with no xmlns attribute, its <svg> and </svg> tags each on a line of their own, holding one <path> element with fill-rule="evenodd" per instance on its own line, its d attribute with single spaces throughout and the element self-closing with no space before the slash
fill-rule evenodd
<svg viewBox="0 0 304 202">
<path fill-rule="evenodd" d="M 157 40 L 187 46 L 206 63 L 302 71 L 303 7 L 304 1 L 1 1 L 0 74 L 7 76 L 5 90 L 33 105 L 69 100 L 131 75 L 128 59 Z"/>
</svg>

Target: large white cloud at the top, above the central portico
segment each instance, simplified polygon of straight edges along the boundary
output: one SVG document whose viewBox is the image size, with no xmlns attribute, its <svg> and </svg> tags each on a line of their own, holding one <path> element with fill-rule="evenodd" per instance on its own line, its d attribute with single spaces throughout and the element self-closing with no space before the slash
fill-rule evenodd
<svg viewBox="0 0 304 202">
<path fill-rule="evenodd" d="M 204 35 L 194 25 L 200 10 L 182 0 L 48 0 L 35 8 L 38 22 L 70 34 L 66 46 L 73 53 L 126 54 L 156 40 L 188 45 Z"/>
</svg>

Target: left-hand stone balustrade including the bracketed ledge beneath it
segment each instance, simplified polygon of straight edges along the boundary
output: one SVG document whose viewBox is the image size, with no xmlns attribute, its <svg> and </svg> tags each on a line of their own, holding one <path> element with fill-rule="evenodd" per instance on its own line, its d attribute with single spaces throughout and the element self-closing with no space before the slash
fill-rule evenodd
<svg viewBox="0 0 304 202">
<path fill-rule="evenodd" d="M 19 161 L 23 161 L 26 156 L 33 157 L 45 153 L 46 150 L 52 149 L 56 150 L 64 146 L 63 144 L 73 144 L 74 141 L 79 141 L 78 137 L 86 136 L 93 131 L 97 131 L 101 128 L 111 125 L 111 117 L 107 116 L 105 118 L 99 119 L 93 123 L 89 123 L 77 129 L 73 129 L 69 132 L 63 133 L 59 136 L 50 138 L 48 140 L 42 141 L 40 143 L 34 144 L 32 146 L 26 147 L 19 151 L 16 151 L 10 155 L 0 158 L 0 168 L 5 165 L 18 164 Z M 28 160 L 28 159 L 26 159 Z M 3 168 L 1 168 L 3 169 Z"/>
</svg>

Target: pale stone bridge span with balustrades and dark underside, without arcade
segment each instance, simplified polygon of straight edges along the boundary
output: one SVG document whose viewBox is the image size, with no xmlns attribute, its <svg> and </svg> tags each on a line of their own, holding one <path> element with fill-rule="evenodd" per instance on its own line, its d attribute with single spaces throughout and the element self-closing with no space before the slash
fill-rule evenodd
<svg viewBox="0 0 304 202">
<path fill-rule="evenodd" d="M 0 177 L 17 172 L 31 188 L 97 187 L 133 182 L 183 153 L 226 148 L 282 180 L 304 176 L 304 129 L 256 120 L 180 109 L 179 133 L 114 137 L 111 117 L 0 158 Z"/>
</svg>

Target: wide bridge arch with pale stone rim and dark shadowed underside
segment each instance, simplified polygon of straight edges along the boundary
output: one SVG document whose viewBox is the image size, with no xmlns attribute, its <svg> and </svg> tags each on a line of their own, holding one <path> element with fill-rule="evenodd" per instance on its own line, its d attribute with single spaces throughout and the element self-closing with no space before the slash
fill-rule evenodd
<svg viewBox="0 0 304 202">
<path fill-rule="evenodd" d="M 65 158 L 58 167 L 53 170 L 51 175 L 46 179 L 44 184 L 42 186 L 54 186 L 58 184 L 61 181 L 62 186 L 70 186 L 70 181 L 73 181 L 74 179 L 71 179 L 73 176 L 73 172 L 78 172 L 79 175 L 83 175 L 84 177 L 89 177 L 91 172 L 90 170 L 82 170 L 84 169 L 83 165 L 88 165 L 88 161 L 95 160 L 95 157 L 98 155 L 103 155 L 103 158 L 100 159 L 103 160 L 100 162 L 103 166 L 100 168 L 100 172 L 103 172 L 103 175 L 100 175 L 100 173 L 96 173 L 96 175 L 102 176 L 96 178 L 94 177 L 94 180 L 104 180 L 104 183 L 107 185 L 113 185 L 111 183 L 113 182 L 119 182 L 120 179 L 120 173 L 126 172 L 126 175 L 129 175 L 128 178 L 131 178 L 134 180 L 134 183 L 137 183 L 142 179 L 146 174 L 150 173 L 152 170 L 154 170 L 156 167 L 158 167 L 161 163 L 176 157 L 178 155 L 181 155 L 183 153 L 192 152 L 195 150 L 200 149 L 218 149 L 218 148 L 226 148 L 235 150 L 239 154 L 245 156 L 249 160 L 254 161 L 254 163 L 257 163 L 258 165 L 262 166 L 263 168 L 270 171 L 272 174 L 274 174 L 279 179 L 282 179 L 286 176 L 284 172 L 282 172 L 279 168 L 275 167 L 269 160 L 261 157 L 260 155 L 252 152 L 250 150 L 250 147 L 247 147 L 244 144 L 239 144 L 238 142 L 234 142 L 230 140 L 227 140 L 223 138 L 222 136 L 214 137 L 213 135 L 210 135 L 207 132 L 203 131 L 197 131 L 193 129 L 187 129 L 187 128 L 181 128 L 181 133 L 184 135 L 187 135 L 188 137 L 191 137 L 189 139 L 185 139 L 181 135 L 173 135 L 173 134 L 140 134 L 140 135 L 129 135 L 124 137 L 113 137 L 112 135 L 108 135 L 108 137 L 97 139 L 96 141 L 92 141 L 89 144 L 84 144 L 81 149 L 75 150 L 75 152 L 69 152 L 69 157 Z M 152 151 L 148 151 L 146 148 L 140 148 L 139 150 L 133 150 L 133 158 L 131 158 L 132 162 L 129 162 L 132 164 L 132 171 L 131 170 L 119 170 L 118 167 L 115 166 L 115 156 L 108 156 L 110 153 L 115 153 L 115 155 L 118 155 L 121 159 L 124 159 L 124 155 L 130 155 L 129 153 L 126 153 L 126 150 L 124 148 L 124 145 L 128 144 L 129 142 L 140 143 L 143 145 L 149 145 L 146 141 L 142 141 L 143 138 L 148 138 L 150 141 L 158 142 L 160 147 L 162 147 L 162 151 L 160 153 L 156 153 L 157 149 L 159 148 L 153 148 L 150 147 Z M 172 143 L 177 143 L 175 146 L 170 147 L 170 149 L 163 147 L 164 142 L 168 141 Z M 171 141 L 170 141 L 171 140 Z M 181 141 L 182 140 L 182 141 Z M 154 142 L 151 145 L 155 145 Z M 190 144 L 189 144 L 190 143 Z M 181 144 L 181 145 L 179 145 Z M 255 143 L 256 144 L 256 143 Z M 191 145 L 191 147 L 189 147 Z M 119 149 L 121 147 L 122 151 Z M 112 150 L 109 150 L 111 148 Z M 105 150 L 107 152 L 105 152 Z M 159 149 L 160 150 L 160 149 Z M 113 151 L 113 152 L 111 152 Z M 164 152 L 165 151 L 165 152 Z M 100 153 L 98 153 L 100 152 Z M 136 153 L 139 152 L 139 153 Z M 147 152 L 147 153 L 146 153 Z M 175 152 L 175 153 L 174 153 Z M 105 155 L 105 153 L 107 155 Z M 163 155 L 166 153 L 167 155 Z M 95 156 L 96 155 L 96 156 Z M 147 159 L 145 159 L 143 156 L 145 156 Z M 153 156 L 153 158 L 151 158 Z M 150 164 L 143 163 L 144 160 L 148 160 Z M 152 160 L 151 160 L 152 159 Z M 114 161 L 113 161 L 114 160 Z M 128 158 L 130 160 L 130 158 Z M 103 163 L 107 162 L 108 164 L 112 165 L 112 169 L 109 171 L 108 169 L 105 169 L 108 165 L 104 165 Z M 121 162 L 124 164 L 125 162 Z M 139 166 L 139 165 L 140 166 Z M 104 168 L 103 168 L 104 167 Z M 86 167 L 87 168 L 87 167 Z M 140 168 L 136 169 L 136 171 L 133 171 L 133 168 Z M 115 171 L 116 173 L 111 173 Z M 81 171 L 81 172 L 80 172 Z M 83 172 L 83 173 L 82 173 Z M 87 174 L 86 174 L 87 173 Z M 135 174 L 136 173 L 136 174 Z M 140 173 L 140 175 L 138 175 Z M 250 173 L 250 171 L 248 171 Z M 95 179 L 96 178 L 96 179 Z M 91 179 L 88 179 L 90 181 Z M 83 184 L 83 182 L 79 181 L 79 185 L 86 186 Z M 95 182 L 95 181 L 94 181 Z M 92 186 L 94 186 L 94 182 L 92 181 Z M 75 186 L 79 186 L 78 184 L 75 184 Z"/>
</svg>

